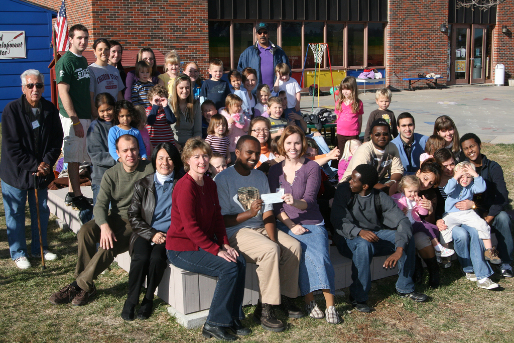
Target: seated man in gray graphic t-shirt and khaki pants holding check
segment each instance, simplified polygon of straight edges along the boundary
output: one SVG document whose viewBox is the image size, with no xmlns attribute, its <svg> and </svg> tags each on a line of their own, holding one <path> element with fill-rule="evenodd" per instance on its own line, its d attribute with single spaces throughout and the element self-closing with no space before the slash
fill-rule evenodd
<svg viewBox="0 0 514 343">
<path fill-rule="evenodd" d="M 261 199 L 270 190 L 266 175 L 253 169 L 260 154 L 259 141 L 242 136 L 235 147 L 235 165 L 217 174 L 214 181 L 230 246 L 247 262 L 257 264 L 261 294 L 253 317 L 264 329 L 280 332 L 285 326 L 275 317 L 273 305 L 291 318 L 304 315 L 291 301 L 298 296 L 302 248 L 298 240 L 277 230 L 272 205 Z"/>
</svg>

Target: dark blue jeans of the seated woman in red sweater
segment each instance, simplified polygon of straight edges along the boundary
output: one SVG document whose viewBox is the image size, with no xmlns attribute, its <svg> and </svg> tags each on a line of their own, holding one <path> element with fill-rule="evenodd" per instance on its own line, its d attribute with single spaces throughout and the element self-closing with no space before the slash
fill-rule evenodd
<svg viewBox="0 0 514 343">
<path fill-rule="evenodd" d="M 203 249 L 196 251 L 168 250 L 168 260 L 177 268 L 218 278 L 207 322 L 212 326 L 230 327 L 232 319 L 245 319 L 246 261 L 241 254 L 237 263 L 214 256 Z"/>
</svg>

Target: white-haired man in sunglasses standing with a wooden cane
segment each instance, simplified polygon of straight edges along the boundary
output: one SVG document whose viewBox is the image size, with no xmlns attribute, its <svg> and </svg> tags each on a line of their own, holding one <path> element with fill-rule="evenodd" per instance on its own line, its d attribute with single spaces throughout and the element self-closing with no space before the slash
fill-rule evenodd
<svg viewBox="0 0 514 343">
<path fill-rule="evenodd" d="M 2 114 L 0 178 L 11 258 L 19 268 L 30 268 L 25 241 L 25 204 L 29 200 L 33 257 L 41 257 L 35 188 L 38 188 L 43 256 L 57 258 L 48 250 L 46 231 L 50 210 L 47 186 L 53 180 L 52 166 L 61 154 L 63 129 L 59 110 L 41 97 L 44 76 L 35 69 L 21 75 L 23 95 L 7 104 Z"/>
</svg>

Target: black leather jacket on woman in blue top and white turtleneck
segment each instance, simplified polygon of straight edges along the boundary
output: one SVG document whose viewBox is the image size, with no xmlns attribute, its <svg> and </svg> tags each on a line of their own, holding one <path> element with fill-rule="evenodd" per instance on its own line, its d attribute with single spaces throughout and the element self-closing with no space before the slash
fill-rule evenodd
<svg viewBox="0 0 514 343">
<path fill-rule="evenodd" d="M 132 196 L 132 202 L 127 211 L 128 222 L 130 222 L 133 231 L 130 238 L 130 244 L 128 245 L 128 254 L 130 255 L 132 255 L 134 242 L 138 236 L 151 242 L 152 238 L 158 232 L 150 226 L 155 210 L 154 175 L 155 173 L 147 175 L 142 179 L 137 180 L 134 184 L 134 195 Z M 173 184 L 175 184 L 181 176 L 182 174 L 175 171 Z M 175 190 L 175 187 L 173 187 L 173 190 Z"/>
</svg>

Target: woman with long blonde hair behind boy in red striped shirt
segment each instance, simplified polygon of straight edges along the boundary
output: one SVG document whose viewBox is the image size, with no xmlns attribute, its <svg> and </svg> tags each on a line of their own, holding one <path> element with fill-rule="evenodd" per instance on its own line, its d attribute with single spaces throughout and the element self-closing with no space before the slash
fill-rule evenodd
<svg viewBox="0 0 514 343">
<path fill-rule="evenodd" d="M 179 74 L 170 95 L 170 107 L 177 121 L 172 125 L 175 139 L 184 145 L 191 137 L 201 137 L 201 106 L 191 92 L 191 79 Z"/>
</svg>

